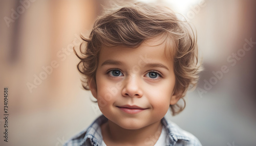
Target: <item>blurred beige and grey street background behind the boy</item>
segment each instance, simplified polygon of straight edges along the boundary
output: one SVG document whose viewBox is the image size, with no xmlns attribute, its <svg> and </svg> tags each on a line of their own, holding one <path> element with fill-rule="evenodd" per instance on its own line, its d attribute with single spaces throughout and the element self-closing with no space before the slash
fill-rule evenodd
<svg viewBox="0 0 256 146">
<path fill-rule="evenodd" d="M 101 113 L 72 47 L 113 1 L 0 1 L 0 145 L 63 145 Z M 203 145 L 256 145 L 256 1 L 169 0 L 194 24 L 204 71 L 166 117 Z M 8 142 L 4 141 L 8 87 Z"/>
</svg>

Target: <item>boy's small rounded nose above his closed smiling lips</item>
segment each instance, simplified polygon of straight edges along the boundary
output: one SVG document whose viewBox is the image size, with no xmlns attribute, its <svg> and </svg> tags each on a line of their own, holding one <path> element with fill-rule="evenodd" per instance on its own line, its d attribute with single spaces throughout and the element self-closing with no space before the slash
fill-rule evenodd
<svg viewBox="0 0 256 146">
<path fill-rule="evenodd" d="M 137 97 L 141 98 L 143 92 L 141 90 L 140 80 L 136 77 L 129 77 L 123 81 L 124 86 L 122 89 L 122 95 L 124 97 Z"/>
</svg>

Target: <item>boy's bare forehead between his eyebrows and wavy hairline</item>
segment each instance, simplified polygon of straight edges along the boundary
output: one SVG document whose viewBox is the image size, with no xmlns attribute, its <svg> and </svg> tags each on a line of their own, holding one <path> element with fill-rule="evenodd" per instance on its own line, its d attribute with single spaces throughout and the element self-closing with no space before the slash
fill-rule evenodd
<svg viewBox="0 0 256 146">
<path fill-rule="evenodd" d="M 103 46 L 99 54 L 99 66 L 104 62 L 121 61 L 124 64 L 136 65 L 141 61 L 161 63 L 173 66 L 173 44 L 163 37 L 154 37 L 144 41 L 136 48 L 126 46 Z"/>
</svg>

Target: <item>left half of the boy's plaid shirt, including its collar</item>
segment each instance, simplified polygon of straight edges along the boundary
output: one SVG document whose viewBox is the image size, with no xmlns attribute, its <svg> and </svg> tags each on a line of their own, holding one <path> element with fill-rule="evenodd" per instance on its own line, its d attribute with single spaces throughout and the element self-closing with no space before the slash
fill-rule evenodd
<svg viewBox="0 0 256 146">
<path fill-rule="evenodd" d="M 100 145 L 102 142 L 100 126 L 107 120 L 103 115 L 99 116 L 87 129 L 73 136 L 63 146 Z"/>
</svg>

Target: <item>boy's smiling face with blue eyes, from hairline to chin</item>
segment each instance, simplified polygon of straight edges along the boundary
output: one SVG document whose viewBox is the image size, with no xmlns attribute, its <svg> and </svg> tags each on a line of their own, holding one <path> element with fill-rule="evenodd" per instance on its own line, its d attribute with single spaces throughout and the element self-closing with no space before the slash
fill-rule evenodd
<svg viewBox="0 0 256 146">
<path fill-rule="evenodd" d="M 173 60 L 165 57 L 164 43 L 153 46 L 159 42 L 154 38 L 138 48 L 103 47 L 100 52 L 96 85 L 89 85 L 103 115 L 124 129 L 160 121 L 179 100 L 173 94 Z"/>
</svg>

